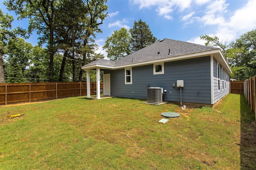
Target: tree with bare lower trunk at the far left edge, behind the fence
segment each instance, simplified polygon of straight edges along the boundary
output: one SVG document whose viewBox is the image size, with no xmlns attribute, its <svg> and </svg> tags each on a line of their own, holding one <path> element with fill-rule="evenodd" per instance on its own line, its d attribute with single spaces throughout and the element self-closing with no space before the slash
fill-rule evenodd
<svg viewBox="0 0 256 170">
<path fill-rule="evenodd" d="M 9 36 L 13 36 L 14 33 L 9 29 L 12 28 L 13 17 L 2 12 L 0 9 L 0 83 L 4 83 L 4 69 L 3 69 L 3 58 L 4 49 L 6 46 L 6 41 L 9 39 Z"/>
</svg>

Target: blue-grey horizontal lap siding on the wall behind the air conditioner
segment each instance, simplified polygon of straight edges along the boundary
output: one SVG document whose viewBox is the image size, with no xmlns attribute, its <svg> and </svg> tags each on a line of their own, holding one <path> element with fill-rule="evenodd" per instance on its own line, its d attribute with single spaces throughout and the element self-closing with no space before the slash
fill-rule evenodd
<svg viewBox="0 0 256 170">
<path fill-rule="evenodd" d="M 210 57 L 200 57 L 164 63 L 164 74 L 153 74 L 153 64 L 132 67 L 132 84 L 124 84 L 124 69 L 105 70 L 110 73 L 111 96 L 147 98 L 147 87 L 163 87 L 166 100 L 180 102 L 180 88 L 173 88 L 177 80 L 184 80 L 182 102 L 210 104 Z M 171 93 L 170 93 L 171 92 Z"/>
</svg>

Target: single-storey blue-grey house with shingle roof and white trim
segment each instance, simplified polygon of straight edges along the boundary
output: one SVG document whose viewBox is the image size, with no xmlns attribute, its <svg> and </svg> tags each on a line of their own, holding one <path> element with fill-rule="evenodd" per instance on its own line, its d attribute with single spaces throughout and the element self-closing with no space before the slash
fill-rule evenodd
<svg viewBox="0 0 256 170">
<path fill-rule="evenodd" d="M 104 96 L 147 99 L 148 87 L 162 87 L 166 101 L 206 105 L 216 104 L 229 93 L 232 73 L 219 48 L 172 39 L 162 39 L 117 61 L 98 59 L 82 69 L 87 71 L 87 80 L 89 70 L 96 70 L 97 99 L 103 71 Z M 177 80 L 184 82 L 182 92 Z M 88 98 L 89 89 L 90 83 Z"/>
</svg>

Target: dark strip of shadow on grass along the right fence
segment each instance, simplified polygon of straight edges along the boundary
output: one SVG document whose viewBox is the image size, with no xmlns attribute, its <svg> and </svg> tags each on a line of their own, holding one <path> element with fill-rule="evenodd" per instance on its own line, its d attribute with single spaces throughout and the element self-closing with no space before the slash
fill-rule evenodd
<svg viewBox="0 0 256 170">
<path fill-rule="evenodd" d="M 240 162 L 241 170 L 256 169 L 256 124 L 255 114 L 243 94 L 240 95 L 241 139 Z"/>
</svg>

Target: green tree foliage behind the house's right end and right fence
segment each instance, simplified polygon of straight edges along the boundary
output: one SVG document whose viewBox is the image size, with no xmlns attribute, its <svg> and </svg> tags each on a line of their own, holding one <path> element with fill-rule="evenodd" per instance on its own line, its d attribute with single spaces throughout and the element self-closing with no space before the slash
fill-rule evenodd
<svg viewBox="0 0 256 170">
<path fill-rule="evenodd" d="M 200 36 L 206 40 L 205 45 L 220 47 L 231 67 L 230 78 L 243 81 L 256 75 L 256 29 L 244 33 L 235 42 L 227 45 L 227 39 L 223 42 L 217 36 Z"/>
</svg>

